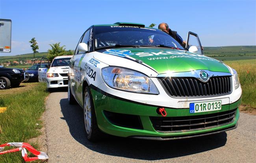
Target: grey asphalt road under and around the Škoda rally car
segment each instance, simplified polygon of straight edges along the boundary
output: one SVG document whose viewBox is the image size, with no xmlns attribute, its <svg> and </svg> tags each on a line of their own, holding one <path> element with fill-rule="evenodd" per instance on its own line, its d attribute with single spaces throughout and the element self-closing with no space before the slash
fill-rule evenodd
<svg viewBox="0 0 256 163">
<path fill-rule="evenodd" d="M 256 163 L 256 116 L 241 113 L 237 129 L 211 136 L 175 141 L 110 136 L 91 143 L 85 138 L 82 109 L 69 105 L 64 91 L 52 92 L 46 101 L 49 163 Z"/>
</svg>

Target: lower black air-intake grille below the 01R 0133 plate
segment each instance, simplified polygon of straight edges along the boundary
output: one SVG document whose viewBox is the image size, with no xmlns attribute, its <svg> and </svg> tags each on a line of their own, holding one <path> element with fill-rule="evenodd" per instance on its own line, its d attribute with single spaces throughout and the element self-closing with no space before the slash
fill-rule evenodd
<svg viewBox="0 0 256 163">
<path fill-rule="evenodd" d="M 183 132 L 199 129 L 209 129 L 232 123 L 236 110 L 228 110 L 213 114 L 184 117 L 150 117 L 155 130 L 159 132 Z"/>
</svg>

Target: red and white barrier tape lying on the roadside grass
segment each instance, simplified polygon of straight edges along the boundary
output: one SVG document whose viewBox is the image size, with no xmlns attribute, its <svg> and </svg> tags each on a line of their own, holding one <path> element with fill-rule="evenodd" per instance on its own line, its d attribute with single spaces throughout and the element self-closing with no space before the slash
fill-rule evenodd
<svg viewBox="0 0 256 163">
<path fill-rule="evenodd" d="M 18 147 L 18 148 L 3 151 L 6 146 L 12 146 L 12 147 Z M 27 154 L 26 149 L 37 157 L 28 158 L 28 154 Z M 22 157 L 25 161 L 34 161 L 34 160 L 37 160 L 37 159 L 48 159 L 48 156 L 45 152 L 37 151 L 36 149 L 34 149 L 28 143 L 14 143 L 13 142 L 13 143 L 6 143 L 6 144 L 0 145 L 0 151 L 2 151 L 2 152 L 0 152 L 0 154 L 6 154 L 6 153 L 10 153 L 10 152 L 17 152 L 17 151 L 20 151 L 20 150 L 21 150 L 21 155 L 22 155 Z"/>
</svg>

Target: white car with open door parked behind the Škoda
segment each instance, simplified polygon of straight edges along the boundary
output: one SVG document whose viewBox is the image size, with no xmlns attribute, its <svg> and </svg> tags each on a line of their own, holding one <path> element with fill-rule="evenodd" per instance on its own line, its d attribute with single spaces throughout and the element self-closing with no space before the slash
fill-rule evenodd
<svg viewBox="0 0 256 163">
<path fill-rule="evenodd" d="M 46 82 L 47 88 L 67 87 L 71 58 L 72 56 L 56 56 L 49 69 L 40 66 L 38 69 L 39 82 Z M 40 65 L 43 63 L 42 60 Z"/>
</svg>

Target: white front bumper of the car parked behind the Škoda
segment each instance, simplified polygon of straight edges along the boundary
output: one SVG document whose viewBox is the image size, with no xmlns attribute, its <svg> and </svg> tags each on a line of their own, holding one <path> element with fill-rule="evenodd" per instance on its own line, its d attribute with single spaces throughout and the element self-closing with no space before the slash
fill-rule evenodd
<svg viewBox="0 0 256 163">
<path fill-rule="evenodd" d="M 58 87 L 68 87 L 68 77 L 58 76 L 54 78 L 47 78 L 47 88 L 58 88 Z"/>
</svg>

